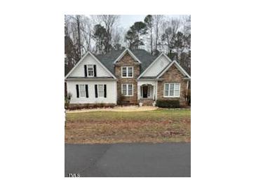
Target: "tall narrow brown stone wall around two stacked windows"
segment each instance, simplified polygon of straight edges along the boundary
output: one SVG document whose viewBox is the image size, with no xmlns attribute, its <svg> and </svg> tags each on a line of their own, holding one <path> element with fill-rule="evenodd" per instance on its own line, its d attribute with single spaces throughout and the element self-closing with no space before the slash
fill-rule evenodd
<svg viewBox="0 0 256 192">
<path fill-rule="evenodd" d="M 133 78 L 122 78 L 121 67 L 133 67 Z M 137 104 L 137 77 L 140 76 L 140 64 L 137 63 L 133 57 L 128 53 L 121 58 L 114 67 L 117 81 L 117 101 L 119 104 Z M 133 97 L 121 96 L 121 84 L 132 83 L 133 84 Z"/>
</svg>

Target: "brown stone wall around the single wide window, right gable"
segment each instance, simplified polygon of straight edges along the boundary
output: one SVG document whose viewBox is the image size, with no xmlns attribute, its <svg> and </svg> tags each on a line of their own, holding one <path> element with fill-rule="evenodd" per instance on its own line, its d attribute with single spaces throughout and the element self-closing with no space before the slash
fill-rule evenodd
<svg viewBox="0 0 256 192">
<path fill-rule="evenodd" d="M 183 74 L 173 64 L 167 71 L 161 76 L 161 81 L 158 83 L 157 100 L 179 100 L 180 105 L 184 107 L 186 105 L 184 90 L 187 89 L 187 81 L 184 80 Z M 163 97 L 163 86 L 165 83 L 180 83 L 180 98 Z"/>
</svg>

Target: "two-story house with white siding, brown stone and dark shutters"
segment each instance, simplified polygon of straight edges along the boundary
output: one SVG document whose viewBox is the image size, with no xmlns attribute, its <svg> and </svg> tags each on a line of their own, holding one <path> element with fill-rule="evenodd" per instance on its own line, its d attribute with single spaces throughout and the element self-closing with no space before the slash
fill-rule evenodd
<svg viewBox="0 0 256 192">
<path fill-rule="evenodd" d="M 146 50 L 86 53 L 65 76 L 71 106 L 153 104 L 156 100 L 185 103 L 190 76 L 175 60 Z"/>
</svg>

